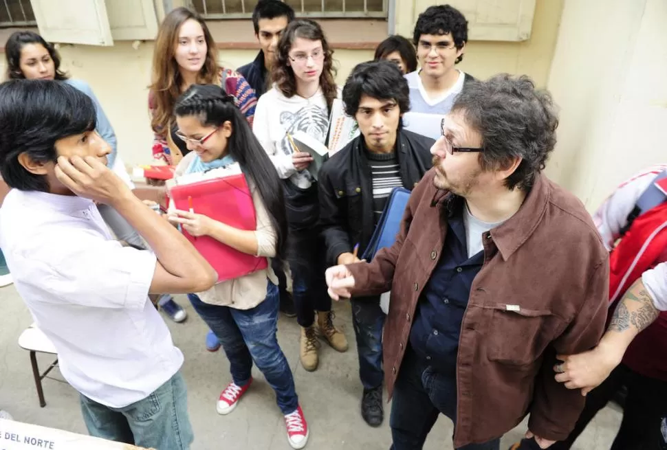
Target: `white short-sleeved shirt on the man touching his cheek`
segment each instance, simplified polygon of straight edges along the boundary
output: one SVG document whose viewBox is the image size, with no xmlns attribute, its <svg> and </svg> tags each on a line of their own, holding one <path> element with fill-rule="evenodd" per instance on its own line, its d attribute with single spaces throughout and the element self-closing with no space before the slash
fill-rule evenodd
<svg viewBox="0 0 667 450">
<path fill-rule="evenodd" d="M 155 255 L 113 240 L 92 201 L 11 190 L 0 208 L 0 248 L 78 392 L 125 407 L 179 370 L 183 355 L 147 297 Z"/>
</svg>

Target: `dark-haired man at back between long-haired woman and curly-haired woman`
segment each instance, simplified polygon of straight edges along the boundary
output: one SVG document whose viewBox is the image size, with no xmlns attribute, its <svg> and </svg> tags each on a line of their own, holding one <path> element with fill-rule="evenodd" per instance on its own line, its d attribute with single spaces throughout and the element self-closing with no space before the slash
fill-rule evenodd
<svg viewBox="0 0 667 450">
<path fill-rule="evenodd" d="M 252 11 L 254 35 L 261 50 L 252 63 L 239 67 L 237 71 L 248 80 L 257 98 L 267 91 L 267 74 L 271 70 L 278 41 L 287 24 L 293 20 L 294 10 L 281 0 L 260 0 Z"/>
</svg>

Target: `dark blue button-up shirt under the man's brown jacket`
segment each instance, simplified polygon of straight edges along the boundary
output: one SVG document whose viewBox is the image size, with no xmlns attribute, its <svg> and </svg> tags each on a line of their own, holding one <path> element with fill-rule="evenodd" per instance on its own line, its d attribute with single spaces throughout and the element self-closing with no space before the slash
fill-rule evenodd
<svg viewBox="0 0 667 450">
<path fill-rule="evenodd" d="M 419 297 L 410 344 L 438 372 L 456 376 L 463 313 L 468 306 L 472 280 L 484 262 L 484 251 L 468 258 L 463 223 L 465 205 L 462 199 L 456 199 L 451 206 L 444 247 Z"/>
</svg>

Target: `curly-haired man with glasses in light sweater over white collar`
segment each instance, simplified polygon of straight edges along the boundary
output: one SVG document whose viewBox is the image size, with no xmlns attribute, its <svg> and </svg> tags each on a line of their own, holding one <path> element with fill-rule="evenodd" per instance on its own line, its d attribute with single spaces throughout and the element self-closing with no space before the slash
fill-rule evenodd
<svg viewBox="0 0 667 450">
<path fill-rule="evenodd" d="M 466 50 L 468 21 L 450 5 L 430 6 L 417 18 L 413 40 L 420 68 L 405 76 L 411 111 L 445 115 L 464 85 L 473 80 L 455 67 Z M 429 137 L 437 139 L 434 133 Z"/>
</svg>

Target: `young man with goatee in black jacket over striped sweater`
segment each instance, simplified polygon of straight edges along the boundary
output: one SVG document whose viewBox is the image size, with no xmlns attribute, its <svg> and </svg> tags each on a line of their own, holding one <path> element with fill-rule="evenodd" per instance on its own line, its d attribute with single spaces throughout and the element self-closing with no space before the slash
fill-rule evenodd
<svg viewBox="0 0 667 450">
<path fill-rule="evenodd" d="M 433 139 L 402 129 L 410 109 L 408 84 L 389 61 L 357 65 L 342 90 L 345 113 L 354 117 L 360 136 L 333 155 L 320 170 L 320 225 L 328 265 L 358 261 L 396 187 L 412 189 L 431 166 Z M 362 417 L 378 427 L 382 409 L 382 327 L 380 297 L 352 300 L 359 375 L 364 394 Z"/>
</svg>

